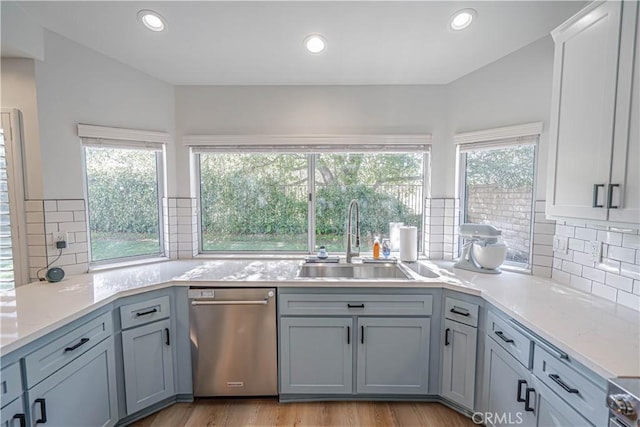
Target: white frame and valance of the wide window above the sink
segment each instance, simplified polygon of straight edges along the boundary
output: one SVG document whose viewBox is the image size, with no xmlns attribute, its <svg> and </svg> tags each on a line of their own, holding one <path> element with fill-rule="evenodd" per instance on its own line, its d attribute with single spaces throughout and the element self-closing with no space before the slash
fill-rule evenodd
<svg viewBox="0 0 640 427">
<path fill-rule="evenodd" d="M 191 176 L 198 204 L 198 253 L 205 256 L 215 255 L 303 255 L 316 252 L 316 186 L 315 165 L 316 154 L 328 153 L 365 153 L 365 154 L 393 154 L 420 153 L 422 154 L 422 224 L 419 239 L 419 252 L 424 251 L 424 202 L 428 197 L 431 166 L 431 135 L 349 135 L 331 137 L 305 136 L 187 136 L 184 143 L 190 146 L 193 165 Z M 202 239 L 202 209 L 201 209 L 201 168 L 200 155 L 206 152 L 226 153 L 307 153 L 307 248 L 304 251 L 205 251 Z M 342 254 L 344 252 L 334 253 Z"/>
</svg>

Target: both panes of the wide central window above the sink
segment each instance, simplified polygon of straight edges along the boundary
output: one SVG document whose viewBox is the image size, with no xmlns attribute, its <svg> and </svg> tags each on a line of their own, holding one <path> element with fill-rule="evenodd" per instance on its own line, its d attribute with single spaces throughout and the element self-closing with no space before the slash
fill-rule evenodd
<svg viewBox="0 0 640 427">
<path fill-rule="evenodd" d="M 395 151 L 194 149 L 201 251 L 315 252 L 324 245 L 344 252 L 351 199 L 360 205 L 363 252 L 371 251 L 376 235 L 389 235 L 390 222 L 421 233 L 428 151 L 424 145 Z"/>
</svg>

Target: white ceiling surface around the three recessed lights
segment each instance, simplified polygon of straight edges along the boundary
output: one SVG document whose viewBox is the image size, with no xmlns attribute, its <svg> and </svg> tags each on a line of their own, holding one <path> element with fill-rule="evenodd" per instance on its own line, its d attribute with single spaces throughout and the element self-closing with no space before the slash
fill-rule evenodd
<svg viewBox="0 0 640 427">
<path fill-rule="evenodd" d="M 548 35 L 576 1 L 44 1 L 43 27 L 175 85 L 443 84 Z M 474 23 L 449 29 L 457 10 Z M 167 21 L 153 33 L 136 18 Z M 327 49 L 310 55 L 304 37 Z M 46 55 L 46 52 L 45 52 Z M 45 58 L 46 59 L 46 58 Z"/>
</svg>

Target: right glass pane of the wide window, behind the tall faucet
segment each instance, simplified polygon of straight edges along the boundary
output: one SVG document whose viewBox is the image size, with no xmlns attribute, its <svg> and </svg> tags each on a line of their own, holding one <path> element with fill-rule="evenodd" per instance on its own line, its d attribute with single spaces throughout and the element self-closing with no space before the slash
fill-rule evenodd
<svg viewBox="0 0 640 427">
<path fill-rule="evenodd" d="M 372 250 L 375 236 L 389 236 L 389 223 L 422 230 L 423 153 L 319 154 L 315 159 L 316 242 L 345 252 L 349 202 L 360 207 L 360 250 Z"/>
</svg>

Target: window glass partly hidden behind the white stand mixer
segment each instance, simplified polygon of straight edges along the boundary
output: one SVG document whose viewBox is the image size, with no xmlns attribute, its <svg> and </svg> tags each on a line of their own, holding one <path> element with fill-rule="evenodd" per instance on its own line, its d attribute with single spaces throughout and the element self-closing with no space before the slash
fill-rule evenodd
<svg viewBox="0 0 640 427">
<path fill-rule="evenodd" d="M 460 147 L 462 222 L 502 231 L 506 263 L 531 264 L 537 135 Z"/>
</svg>

